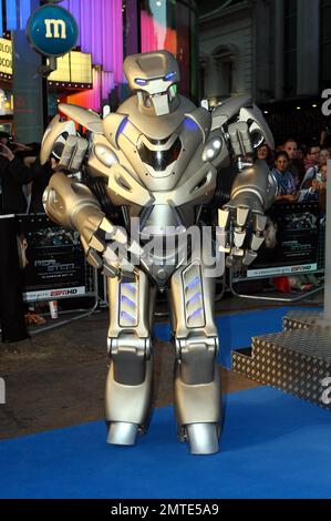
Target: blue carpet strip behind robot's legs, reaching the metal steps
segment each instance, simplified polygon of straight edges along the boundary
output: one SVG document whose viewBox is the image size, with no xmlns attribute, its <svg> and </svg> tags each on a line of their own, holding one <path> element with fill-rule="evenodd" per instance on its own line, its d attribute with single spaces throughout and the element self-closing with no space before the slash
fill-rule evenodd
<svg viewBox="0 0 331 521">
<path fill-rule="evenodd" d="M 218 364 L 230 368 L 232 349 L 249 347 L 251 345 L 251 337 L 281 331 L 282 318 L 289 310 L 293 309 L 302 308 L 281 307 L 216 317 L 220 340 Z M 308 310 L 308 308 L 303 309 Z M 312 309 L 316 310 L 318 308 Z M 161 340 L 168 341 L 170 338 L 170 327 L 168 324 L 156 324 L 154 333 Z"/>
</svg>

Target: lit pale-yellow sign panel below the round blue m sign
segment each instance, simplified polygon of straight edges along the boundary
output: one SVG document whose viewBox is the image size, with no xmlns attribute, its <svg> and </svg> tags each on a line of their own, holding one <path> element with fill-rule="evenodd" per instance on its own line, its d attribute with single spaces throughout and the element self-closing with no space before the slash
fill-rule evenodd
<svg viewBox="0 0 331 521">
<path fill-rule="evenodd" d="M 79 51 L 71 51 L 58 58 L 58 69 L 49 75 L 49 81 L 75 84 L 92 83 L 92 58 Z"/>
</svg>

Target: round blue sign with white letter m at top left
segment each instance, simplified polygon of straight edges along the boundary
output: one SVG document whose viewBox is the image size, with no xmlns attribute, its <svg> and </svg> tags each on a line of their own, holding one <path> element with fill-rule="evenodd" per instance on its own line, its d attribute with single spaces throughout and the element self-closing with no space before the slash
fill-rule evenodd
<svg viewBox="0 0 331 521">
<path fill-rule="evenodd" d="M 79 28 L 66 9 L 46 4 L 37 9 L 29 18 L 27 37 L 32 48 L 41 54 L 62 57 L 74 48 Z"/>
</svg>

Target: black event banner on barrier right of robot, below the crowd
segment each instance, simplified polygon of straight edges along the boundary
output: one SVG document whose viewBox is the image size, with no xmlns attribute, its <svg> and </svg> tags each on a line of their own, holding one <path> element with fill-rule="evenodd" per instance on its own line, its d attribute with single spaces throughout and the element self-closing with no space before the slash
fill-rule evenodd
<svg viewBox="0 0 331 521">
<path fill-rule="evenodd" d="M 319 204 L 276 203 L 268 212 L 266 243 L 248 278 L 318 269 Z"/>
</svg>

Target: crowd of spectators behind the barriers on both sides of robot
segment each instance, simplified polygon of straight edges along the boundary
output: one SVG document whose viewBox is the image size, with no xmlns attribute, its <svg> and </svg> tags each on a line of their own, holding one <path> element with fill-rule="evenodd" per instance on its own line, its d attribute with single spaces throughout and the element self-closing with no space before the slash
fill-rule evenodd
<svg viewBox="0 0 331 521">
<path fill-rule="evenodd" d="M 63 151 L 56 143 L 50 161 L 41 165 L 40 144 L 21 144 L 0 132 L 0 315 L 2 341 L 28 338 L 25 310 L 22 302 L 21 274 L 13 221 L 2 219 L 8 214 L 43 212 L 42 194 L 56 171 Z M 325 214 L 328 160 L 331 147 L 323 143 L 301 145 L 288 139 L 277 150 L 262 143 L 252 160 L 266 161 L 278 182 L 277 202 L 319 202 Z"/>
</svg>

